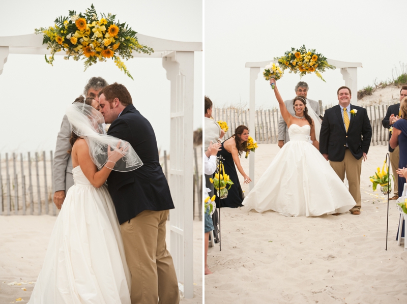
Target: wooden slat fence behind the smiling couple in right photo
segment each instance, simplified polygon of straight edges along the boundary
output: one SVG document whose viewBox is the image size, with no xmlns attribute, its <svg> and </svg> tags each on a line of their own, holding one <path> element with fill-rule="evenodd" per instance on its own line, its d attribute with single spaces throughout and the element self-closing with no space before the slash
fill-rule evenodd
<svg viewBox="0 0 407 304">
<path fill-rule="evenodd" d="M 322 106 L 322 102 L 319 101 L 322 109 L 322 115 L 325 110 L 331 106 Z M 382 125 L 382 120 L 386 116 L 388 105 L 377 105 L 364 107 L 367 110 L 367 115 L 370 119 L 372 126 L 372 141 L 374 145 L 387 145 L 389 142 L 389 130 L 385 129 Z M 238 108 L 213 108 L 212 117 L 215 120 L 226 121 L 229 127 L 224 139 L 229 138 L 234 134 L 235 129 L 240 125 L 249 126 L 249 109 Z M 279 109 L 260 109 L 255 113 L 254 132 L 249 130 L 249 134 L 253 137 L 258 144 L 261 143 L 277 143 L 278 141 L 278 121 L 280 119 Z M 351 118 L 352 119 L 352 118 Z M 254 135 L 254 136 L 253 136 Z"/>
</svg>

